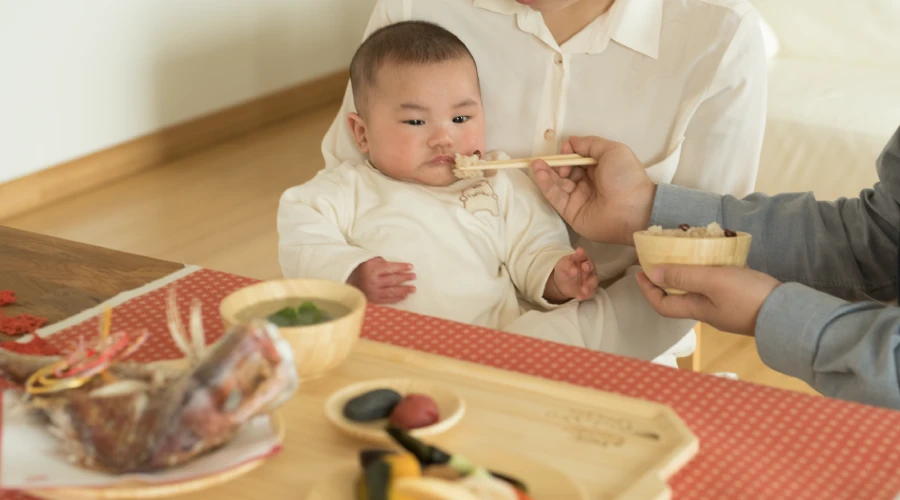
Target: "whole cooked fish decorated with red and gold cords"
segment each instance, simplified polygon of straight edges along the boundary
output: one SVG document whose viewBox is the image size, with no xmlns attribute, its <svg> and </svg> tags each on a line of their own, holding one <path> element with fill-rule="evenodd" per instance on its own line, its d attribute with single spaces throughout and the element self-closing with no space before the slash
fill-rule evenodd
<svg viewBox="0 0 900 500">
<path fill-rule="evenodd" d="M 146 334 L 117 332 L 65 357 L 0 350 L 0 374 L 24 385 L 26 407 L 47 417 L 69 461 L 113 474 L 170 468 L 210 452 L 297 389 L 292 351 L 271 323 L 232 328 L 206 346 L 198 303 L 190 335 L 174 295 L 167 315 L 181 360 L 124 360 Z"/>
</svg>

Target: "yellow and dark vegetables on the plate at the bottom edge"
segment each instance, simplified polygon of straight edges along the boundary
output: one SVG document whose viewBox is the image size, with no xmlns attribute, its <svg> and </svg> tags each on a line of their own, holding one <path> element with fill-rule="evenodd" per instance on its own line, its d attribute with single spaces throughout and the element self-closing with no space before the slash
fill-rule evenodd
<svg viewBox="0 0 900 500">
<path fill-rule="evenodd" d="M 357 500 L 530 500 L 528 488 L 518 479 L 451 455 L 398 427 L 388 426 L 388 434 L 405 451 L 360 452 Z"/>
</svg>

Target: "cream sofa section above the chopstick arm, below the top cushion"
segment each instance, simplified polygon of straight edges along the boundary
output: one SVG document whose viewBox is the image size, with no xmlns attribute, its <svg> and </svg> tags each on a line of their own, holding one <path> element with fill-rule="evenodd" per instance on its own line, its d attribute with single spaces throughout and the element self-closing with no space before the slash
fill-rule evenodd
<svg viewBox="0 0 900 500">
<path fill-rule="evenodd" d="M 757 190 L 814 191 L 831 200 L 872 187 L 875 160 L 900 126 L 898 89 L 900 65 L 849 71 L 778 58 L 769 70 Z"/>
</svg>

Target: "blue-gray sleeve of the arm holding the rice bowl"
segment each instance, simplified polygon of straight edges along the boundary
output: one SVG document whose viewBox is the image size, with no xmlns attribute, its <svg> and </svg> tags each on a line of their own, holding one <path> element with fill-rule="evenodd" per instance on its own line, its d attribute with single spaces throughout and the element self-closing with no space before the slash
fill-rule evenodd
<svg viewBox="0 0 900 500">
<path fill-rule="evenodd" d="M 787 283 L 760 310 L 756 346 L 766 365 L 826 396 L 900 409 L 900 307 Z"/>
</svg>

